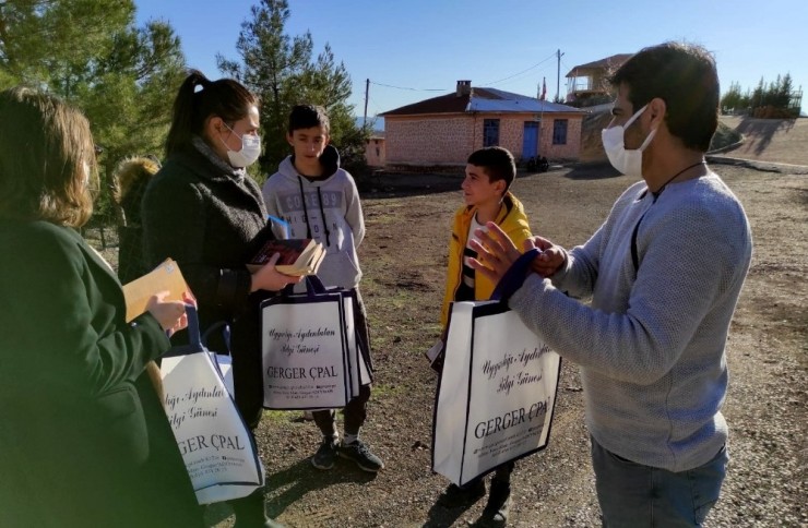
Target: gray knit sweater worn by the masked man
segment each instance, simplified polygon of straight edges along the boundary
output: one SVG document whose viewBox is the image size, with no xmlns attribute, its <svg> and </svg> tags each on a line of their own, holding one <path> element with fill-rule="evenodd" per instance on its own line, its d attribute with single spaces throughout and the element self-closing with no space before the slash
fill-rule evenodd
<svg viewBox="0 0 808 528">
<path fill-rule="evenodd" d="M 751 253 L 746 214 L 715 173 L 658 199 L 641 181 L 551 283 L 532 275 L 510 307 L 581 367 L 586 425 L 601 445 L 682 471 L 727 440 L 724 349 Z M 592 296 L 591 305 L 563 291 Z"/>
</svg>

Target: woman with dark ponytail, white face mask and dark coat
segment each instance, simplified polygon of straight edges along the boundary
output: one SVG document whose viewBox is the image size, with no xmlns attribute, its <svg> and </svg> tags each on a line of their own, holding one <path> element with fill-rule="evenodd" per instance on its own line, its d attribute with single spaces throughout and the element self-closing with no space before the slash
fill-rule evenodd
<svg viewBox="0 0 808 528">
<path fill-rule="evenodd" d="M 236 405 L 254 429 L 263 401 L 259 308 L 270 292 L 298 283 L 275 269 L 277 257 L 251 274 L 254 240 L 271 236 L 258 184 L 246 172 L 261 154 L 258 97 L 230 79 L 192 70 L 174 103 L 167 159 L 143 196 L 147 266 L 179 264 L 199 302 L 202 328 L 230 327 Z M 209 343 L 225 351 L 222 340 Z M 262 490 L 231 501 L 236 526 L 277 526 L 264 516 Z"/>
</svg>

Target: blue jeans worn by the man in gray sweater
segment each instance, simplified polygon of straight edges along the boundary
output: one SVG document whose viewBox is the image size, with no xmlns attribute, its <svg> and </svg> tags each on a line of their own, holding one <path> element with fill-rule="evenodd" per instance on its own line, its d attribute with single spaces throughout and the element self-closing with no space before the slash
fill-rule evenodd
<svg viewBox="0 0 808 528">
<path fill-rule="evenodd" d="M 675 473 L 627 460 L 591 440 L 604 527 L 701 526 L 718 500 L 726 446 L 703 466 Z"/>
</svg>

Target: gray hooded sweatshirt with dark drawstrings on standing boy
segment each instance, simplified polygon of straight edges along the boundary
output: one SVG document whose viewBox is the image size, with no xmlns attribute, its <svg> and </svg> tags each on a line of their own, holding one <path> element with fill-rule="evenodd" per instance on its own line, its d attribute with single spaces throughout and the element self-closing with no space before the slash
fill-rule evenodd
<svg viewBox="0 0 808 528">
<path fill-rule="evenodd" d="M 356 249 L 365 238 L 359 192 L 340 168 L 336 148 L 326 146 L 320 161 L 328 176 L 314 181 L 297 172 L 292 156 L 281 161 L 263 185 L 266 211 L 288 224 L 285 233 L 273 223 L 278 238 L 313 238 L 323 244 L 325 259 L 317 276 L 325 286 L 355 288 L 361 278 Z"/>
</svg>

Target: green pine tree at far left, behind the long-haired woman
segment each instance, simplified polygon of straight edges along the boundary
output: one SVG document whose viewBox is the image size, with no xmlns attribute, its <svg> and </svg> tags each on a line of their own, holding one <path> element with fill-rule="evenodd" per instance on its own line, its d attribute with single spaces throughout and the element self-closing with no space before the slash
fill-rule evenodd
<svg viewBox="0 0 808 528">
<path fill-rule="evenodd" d="M 162 151 L 183 69 L 171 27 L 136 27 L 132 0 L 0 0 L 0 87 L 48 91 L 90 120 L 102 149 L 96 223 L 115 216 L 120 159 Z"/>
</svg>

